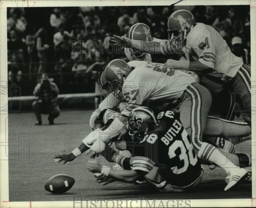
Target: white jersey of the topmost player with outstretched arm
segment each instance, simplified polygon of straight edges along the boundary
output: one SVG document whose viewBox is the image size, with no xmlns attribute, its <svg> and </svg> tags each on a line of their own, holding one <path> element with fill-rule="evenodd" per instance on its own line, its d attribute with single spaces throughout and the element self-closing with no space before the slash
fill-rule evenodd
<svg viewBox="0 0 256 208">
<path fill-rule="evenodd" d="M 209 25 L 197 23 L 188 33 L 186 43 L 191 47 L 191 52 L 185 53 L 187 60 L 198 60 L 213 68 L 202 75 L 217 83 L 232 79 L 243 65 L 243 60 L 231 52 L 226 41 Z"/>
</svg>

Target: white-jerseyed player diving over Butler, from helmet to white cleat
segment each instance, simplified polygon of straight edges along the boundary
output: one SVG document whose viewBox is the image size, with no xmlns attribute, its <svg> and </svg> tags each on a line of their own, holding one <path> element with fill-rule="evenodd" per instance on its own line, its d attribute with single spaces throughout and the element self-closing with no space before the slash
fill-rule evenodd
<svg viewBox="0 0 256 208">
<path fill-rule="evenodd" d="M 246 176 L 248 172 L 227 161 L 218 149 L 211 144 L 202 142 L 202 134 L 206 125 L 206 119 L 211 106 L 211 96 L 209 91 L 191 79 L 189 75 L 178 70 L 171 70 L 162 64 L 132 61 L 129 62 L 135 68 L 129 66 L 123 60 L 111 61 L 105 69 L 105 78 L 112 84 L 116 96 L 124 97 L 127 101 L 126 108 L 122 111 L 124 115 L 121 119 L 115 119 L 118 129 L 114 131 L 107 129 L 102 131 L 106 134 L 102 139 L 98 139 L 97 133 L 90 135 L 91 140 L 96 140 L 90 150 L 101 153 L 111 137 L 119 135 L 127 121 L 125 115 L 129 115 L 134 107 L 141 105 L 143 101 L 164 101 L 178 103 L 180 120 L 188 132 L 197 156 L 203 157 L 227 171 L 233 180 L 230 180 L 225 190 L 236 184 L 234 176 L 239 180 Z M 141 72 L 143 75 L 141 74 Z M 125 82 L 122 82 L 125 79 Z M 140 85 L 142 84 L 142 85 Z M 139 86 L 147 86 L 139 89 Z M 122 89 L 122 90 L 121 90 Z M 144 90 L 144 91 L 143 91 Z M 121 92 L 121 93 L 120 93 Z M 118 94 L 120 93 L 120 94 Z M 204 100 L 201 98 L 204 97 Z M 120 121 L 122 120 L 122 121 Z M 111 135 L 111 136 L 110 136 Z M 73 152 L 74 155 L 81 154 L 80 150 Z"/>
</svg>

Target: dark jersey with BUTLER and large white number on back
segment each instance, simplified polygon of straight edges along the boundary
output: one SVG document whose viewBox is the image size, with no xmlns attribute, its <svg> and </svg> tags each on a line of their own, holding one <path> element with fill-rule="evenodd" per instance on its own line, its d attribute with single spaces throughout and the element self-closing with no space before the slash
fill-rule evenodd
<svg viewBox="0 0 256 208">
<path fill-rule="evenodd" d="M 178 187 L 188 186 L 201 174 L 201 164 L 189 136 L 173 111 L 160 112 L 157 120 L 156 130 L 147 132 L 143 140 L 126 143 L 132 148 L 131 168 L 144 175 L 153 172 L 151 182 L 158 186 L 164 181 Z"/>
</svg>

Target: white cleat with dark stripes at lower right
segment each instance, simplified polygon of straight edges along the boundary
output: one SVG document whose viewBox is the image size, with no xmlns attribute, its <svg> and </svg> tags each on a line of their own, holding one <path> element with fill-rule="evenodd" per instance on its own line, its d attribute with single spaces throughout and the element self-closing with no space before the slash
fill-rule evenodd
<svg viewBox="0 0 256 208">
<path fill-rule="evenodd" d="M 248 177 L 248 172 L 244 168 L 239 168 L 232 173 L 229 171 L 228 176 L 226 177 L 226 182 L 228 185 L 225 187 L 224 191 L 230 190 L 234 187 L 238 182 L 246 179 Z"/>
</svg>

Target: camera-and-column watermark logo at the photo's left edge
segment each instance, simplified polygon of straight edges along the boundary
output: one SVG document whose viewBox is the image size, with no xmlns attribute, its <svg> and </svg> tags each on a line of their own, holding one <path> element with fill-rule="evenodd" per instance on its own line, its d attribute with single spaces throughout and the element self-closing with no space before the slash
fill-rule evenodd
<svg viewBox="0 0 256 208">
<path fill-rule="evenodd" d="M 21 87 L 16 86 L 12 83 L 8 86 L 6 81 L 1 81 L 0 93 L 2 96 L 7 96 L 8 101 L 1 103 L 1 113 L 7 114 L 8 119 L 15 117 L 17 112 L 21 111 Z M 11 168 L 37 168 L 38 165 L 31 163 L 30 158 L 30 134 L 32 131 L 37 130 L 37 123 L 35 121 L 12 121 L 7 124 L 7 119 L 5 120 L 6 127 L 10 131 L 17 132 L 17 142 L 7 141 L 8 137 L 7 129 L 5 129 L 5 141 L 0 142 L 1 151 L 5 152 L 5 157 L 1 160 L 11 160 L 16 161 L 16 164 L 12 164 Z M 17 157 L 9 156 L 7 152 L 7 147 L 16 146 L 18 148 Z"/>
</svg>

